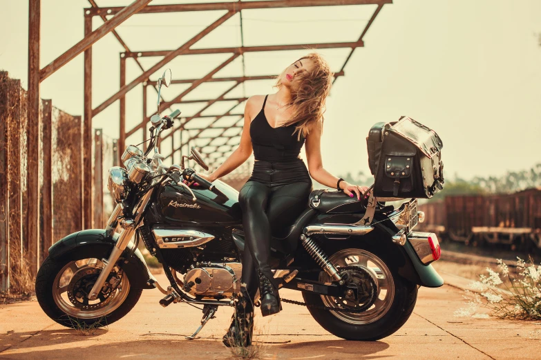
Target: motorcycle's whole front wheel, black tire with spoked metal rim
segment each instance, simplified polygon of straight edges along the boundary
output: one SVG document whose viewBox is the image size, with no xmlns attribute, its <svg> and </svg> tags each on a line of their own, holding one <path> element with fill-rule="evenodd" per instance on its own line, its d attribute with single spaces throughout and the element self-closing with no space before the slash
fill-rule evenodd
<svg viewBox="0 0 541 360">
<path fill-rule="evenodd" d="M 36 279 L 39 306 L 57 323 L 68 328 L 97 328 L 122 319 L 141 296 L 133 289 L 126 273 L 115 266 L 94 301 L 88 300 L 99 273 L 101 260 L 47 258 Z"/>
</svg>

